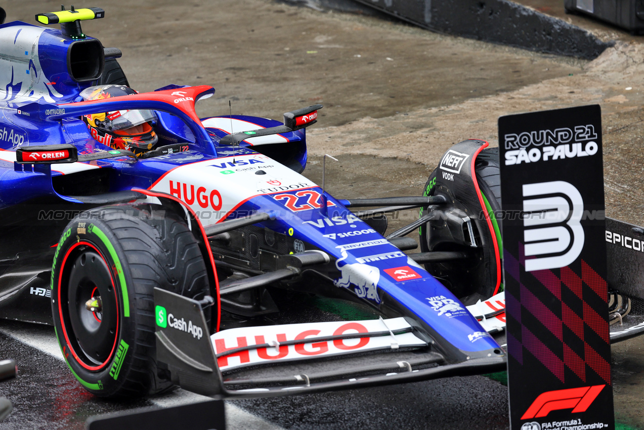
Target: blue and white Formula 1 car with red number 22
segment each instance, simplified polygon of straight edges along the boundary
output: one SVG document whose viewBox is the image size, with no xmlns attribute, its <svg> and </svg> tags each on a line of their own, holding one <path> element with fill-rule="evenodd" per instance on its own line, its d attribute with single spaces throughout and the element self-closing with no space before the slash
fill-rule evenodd
<svg viewBox="0 0 644 430">
<path fill-rule="evenodd" d="M 101 397 L 176 385 L 262 397 L 506 369 L 488 333 L 504 304 L 486 142 L 453 145 L 423 196 L 334 198 L 301 176 L 322 106 L 283 122 L 198 118 L 209 86 L 135 93 L 118 85 L 120 51 L 82 33 L 103 16 L 0 25 L 0 317 L 53 324 L 71 372 Z M 364 207 L 379 208 L 352 211 Z M 413 208 L 418 220 L 384 236 L 384 214 Z M 405 254 L 417 229 L 422 252 Z M 257 318 L 289 292 L 382 316 Z"/>
</svg>

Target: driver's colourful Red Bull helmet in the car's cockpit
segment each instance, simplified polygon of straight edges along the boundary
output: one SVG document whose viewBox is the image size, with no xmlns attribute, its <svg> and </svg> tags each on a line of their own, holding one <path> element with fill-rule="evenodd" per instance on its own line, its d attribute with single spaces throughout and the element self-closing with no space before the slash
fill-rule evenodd
<svg viewBox="0 0 644 430">
<path fill-rule="evenodd" d="M 99 85 L 81 91 L 83 100 L 137 94 L 124 85 Z M 152 129 L 156 115 L 150 110 L 122 110 L 83 115 L 91 136 L 113 149 L 128 149 L 137 156 L 153 149 L 159 138 Z"/>
</svg>

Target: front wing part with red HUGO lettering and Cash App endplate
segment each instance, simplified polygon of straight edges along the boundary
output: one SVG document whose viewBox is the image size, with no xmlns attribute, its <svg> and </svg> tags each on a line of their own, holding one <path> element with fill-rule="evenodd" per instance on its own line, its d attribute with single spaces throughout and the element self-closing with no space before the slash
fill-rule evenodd
<svg viewBox="0 0 644 430">
<path fill-rule="evenodd" d="M 504 356 L 448 363 L 402 317 L 319 323 L 322 330 L 298 335 L 302 324 L 211 336 L 200 302 L 155 288 L 155 318 L 156 360 L 181 388 L 214 398 L 317 393 L 506 368 Z"/>
</svg>

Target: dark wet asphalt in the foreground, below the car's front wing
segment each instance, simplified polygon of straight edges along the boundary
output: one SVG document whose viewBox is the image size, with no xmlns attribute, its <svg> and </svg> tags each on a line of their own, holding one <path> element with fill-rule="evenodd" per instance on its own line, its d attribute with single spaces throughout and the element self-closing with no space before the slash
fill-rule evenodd
<svg viewBox="0 0 644 430">
<path fill-rule="evenodd" d="M 324 319 L 323 311 L 317 317 Z M 308 313 L 307 313 L 308 315 Z M 334 315 L 327 315 L 336 319 Z M 319 321 L 319 320 L 318 320 Z M 128 409 L 154 409 L 159 404 L 205 400 L 183 390 L 149 400 L 112 402 L 87 393 L 57 358 L 5 333 L 25 339 L 37 333 L 43 345 L 57 348 L 53 329 L 28 323 L 0 325 L 5 357 L 18 361 L 15 379 L 0 382 L 0 397 L 14 411 L 0 423 L 3 430 L 84 429 L 93 415 Z M 47 341 L 49 340 L 49 342 Z M 228 429 L 506 429 L 507 388 L 483 376 L 457 377 L 381 388 L 294 397 L 227 401 L 261 418 L 231 416 Z M 189 418 L 186 421 L 189 429 Z M 155 430 L 162 430 L 155 427 Z"/>
</svg>

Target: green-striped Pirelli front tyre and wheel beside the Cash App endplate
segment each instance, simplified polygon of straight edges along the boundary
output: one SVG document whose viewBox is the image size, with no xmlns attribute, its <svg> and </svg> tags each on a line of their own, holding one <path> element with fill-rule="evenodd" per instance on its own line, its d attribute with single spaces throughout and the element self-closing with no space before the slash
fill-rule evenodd
<svg viewBox="0 0 644 430">
<path fill-rule="evenodd" d="M 172 387 L 154 360 L 155 286 L 197 300 L 209 294 L 198 244 L 175 213 L 115 205 L 65 227 L 52 266 L 53 322 L 71 373 L 91 393 L 138 397 Z"/>
</svg>

